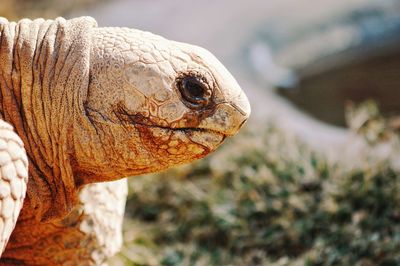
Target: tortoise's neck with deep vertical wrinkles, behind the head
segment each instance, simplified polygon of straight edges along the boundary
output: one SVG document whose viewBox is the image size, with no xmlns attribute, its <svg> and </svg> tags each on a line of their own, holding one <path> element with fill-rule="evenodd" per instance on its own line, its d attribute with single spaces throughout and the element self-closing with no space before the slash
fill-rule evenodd
<svg viewBox="0 0 400 266">
<path fill-rule="evenodd" d="M 90 29 L 74 23 L 0 21 L 0 116 L 14 126 L 29 157 L 21 216 L 34 210 L 42 221 L 63 217 L 77 200 L 71 132 L 83 112 L 90 54 L 83 36 Z"/>
</svg>

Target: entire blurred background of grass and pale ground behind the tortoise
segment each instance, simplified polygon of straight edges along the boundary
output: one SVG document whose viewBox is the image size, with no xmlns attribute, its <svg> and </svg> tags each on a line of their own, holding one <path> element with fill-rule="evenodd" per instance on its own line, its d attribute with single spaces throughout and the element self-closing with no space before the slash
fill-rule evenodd
<svg viewBox="0 0 400 266">
<path fill-rule="evenodd" d="M 130 179 L 110 265 L 400 265 L 399 0 L 2 0 L 203 46 L 252 105 L 195 164 Z"/>
</svg>

